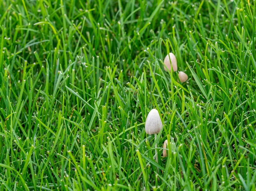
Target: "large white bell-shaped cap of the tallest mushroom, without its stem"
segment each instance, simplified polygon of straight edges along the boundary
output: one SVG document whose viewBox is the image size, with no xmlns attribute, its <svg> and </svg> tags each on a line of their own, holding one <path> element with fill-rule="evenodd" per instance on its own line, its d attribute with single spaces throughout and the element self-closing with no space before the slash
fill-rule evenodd
<svg viewBox="0 0 256 191">
<path fill-rule="evenodd" d="M 157 134 L 162 129 L 163 123 L 156 109 L 152 109 L 146 119 L 145 130 L 147 134 Z"/>
</svg>

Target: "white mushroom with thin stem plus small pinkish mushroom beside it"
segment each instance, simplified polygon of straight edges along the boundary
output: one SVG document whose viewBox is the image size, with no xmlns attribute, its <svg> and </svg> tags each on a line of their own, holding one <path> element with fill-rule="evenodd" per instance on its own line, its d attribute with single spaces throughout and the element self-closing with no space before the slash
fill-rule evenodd
<svg viewBox="0 0 256 191">
<path fill-rule="evenodd" d="M 146 118 L 146 123 L 145 123 L 145 130 L 147 134 L 153 135 L 155 134 L 155 139 L 156 139 L 156 134 L 160 132 L 160 130 L 163 127 L 163 123 L 161 121 L 160 115 L 156 109 L 152 109 L 147 118 Z M 164 150 L 163 150 L 163 156 L 167 156 L 166 152 L 166 147 L 167 147 L 168 141 L 164 141 Z M 157 147 L 157 144 L 155 144 L 155 148 Z M 157 150 L 155 149 L 155 161 L 158 163 L 158 155 L 157 155 Z"/>
</svg>

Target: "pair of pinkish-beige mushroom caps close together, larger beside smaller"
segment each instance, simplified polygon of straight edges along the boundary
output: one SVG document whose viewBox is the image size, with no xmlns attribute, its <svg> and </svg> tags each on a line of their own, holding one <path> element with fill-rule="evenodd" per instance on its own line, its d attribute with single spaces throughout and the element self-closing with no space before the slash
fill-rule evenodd
<svg viewBox="0 0 256 191">
<path fill-rule="evenodd" d="M 175 55 L 173 53 L 169 53 L 166 55 L 166 57 L 164 58 L 164 65 L 166 66 L 166 68 L 171 71 L 171 64 L 173 66 L 173 71 L 176 72 L 178 70 L 178 67 L 177 67 L 177 59 L 175 57 Z M 164 70 L 167 71 L 164 67 Z M 180 82 L 183 83 L 183 82 L 186 82 L 187 79 L 188 79 L 188 76 L 186 73 L 180 71 L 178 73 L 178 76 L 179 76 L 179 79 L 180 79 Z"/>
</svg>

